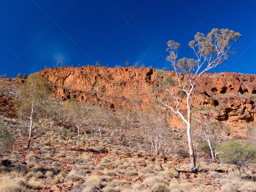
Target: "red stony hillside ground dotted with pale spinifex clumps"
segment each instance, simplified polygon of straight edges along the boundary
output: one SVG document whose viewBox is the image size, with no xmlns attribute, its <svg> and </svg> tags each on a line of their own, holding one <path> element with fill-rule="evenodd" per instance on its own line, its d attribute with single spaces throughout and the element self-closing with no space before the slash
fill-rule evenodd
<svg viewBox="0 0 256 192">
<path fill-rule="evenodd" d="M 139 126 L 126 132 L 122 142 L 108 132 L 92 141 L 83 133 L 77 137 L 70 127 L 64 127 L 63 131 L 59 126 L 50 128 L 43 119 L 41 124 L 36 121 L 33 124 L 31 146 L 27 149 L 28 125 L 21 130 L 12 104 L 22 81 L 16 78 L 0 81 L 5 86 L 1 87 L 4 92 L 0 95 L 0 120 L 7 123 L 14 138 L 12 151 L 0 152 L 1 192 L 256 191 L 255 164 L 243 168 L 239 180 L 235 165 L 212 163 L 199 149 L 196 150 L 198 172 L 178 173 L 177 170 L 189 167 L 186 134 L 179 126 L 171 129 L 170 150 L 162 150 L 156 156 L 140 145 L 143 138 Z M 66 102 L 55 97 L 52 100 Z"/>
</svg>

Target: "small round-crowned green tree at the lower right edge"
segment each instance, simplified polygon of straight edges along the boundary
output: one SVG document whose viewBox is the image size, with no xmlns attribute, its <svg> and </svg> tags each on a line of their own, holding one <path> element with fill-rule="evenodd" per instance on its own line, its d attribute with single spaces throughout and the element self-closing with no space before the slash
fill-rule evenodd
<svg viewBox="0 0 256 192">
<path fill-rule="evenodd" d="M 236 165 L 241 179 L 241 167 L 246 167 L 251 159 L 256 157 L 256 149 L 248 143 L 229 141 L 222 144 L 219 149 L 221 160 Z"/>
</svg>

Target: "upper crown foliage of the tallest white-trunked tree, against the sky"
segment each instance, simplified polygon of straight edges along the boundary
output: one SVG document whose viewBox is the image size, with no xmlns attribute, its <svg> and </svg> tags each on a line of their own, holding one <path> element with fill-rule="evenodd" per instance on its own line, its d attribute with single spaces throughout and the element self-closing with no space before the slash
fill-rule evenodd
<svg viewBox="0 0 256 192">
<path fill-rule="evenodd" d="M 201 58 L 201 60 L 183 57 L 178 61 L 176 59 L 178 58 L 177 52 L 180 49 L 180 44 L 170 40 L 167 42 L 169 48 L 166 51 L 170 52 L 167 60 L 171 61 L 176 72 L 185 75 L 190 75 L 193 71 L 195 71 L 194 74 L 197 74 L 204 63 L 207 64 L 205 72 L 220 65 L 223 61 L 228 61 L 228 57 L 235 54 L 235 52 L 230 51 L 231 45 L 241 37 L 239 33 L 228 29 L 219 30 L 214 28 L 206 37 L 203 33 L 198 32 L 195 35 L 195 40 L 190 41 L 188 45 L 193 49 L 197 58 Z"/>
</svg>

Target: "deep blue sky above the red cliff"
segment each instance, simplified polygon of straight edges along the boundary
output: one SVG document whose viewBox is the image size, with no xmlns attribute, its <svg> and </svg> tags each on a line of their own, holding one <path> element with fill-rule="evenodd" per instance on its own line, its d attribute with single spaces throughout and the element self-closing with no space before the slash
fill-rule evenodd
<svg viewBox="0 0 256 192">
<path fill-rule="evenodd" d="M 0 75 L 80 64 L 166 67 L 166 42 L 179 58 L 196 32 L 228 28 L 242 38 L 232 60 L 210 72 L 256 73 L 256 0 L 0 0 Z"/>
</svg>

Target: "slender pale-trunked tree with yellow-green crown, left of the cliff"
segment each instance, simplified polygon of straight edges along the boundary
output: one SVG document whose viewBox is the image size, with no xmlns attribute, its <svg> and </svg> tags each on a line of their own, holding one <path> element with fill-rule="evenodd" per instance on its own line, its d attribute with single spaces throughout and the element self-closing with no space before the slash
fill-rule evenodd
<svg viewBox="0 0 256 192">
<path fill-rule="evenodd" d="M 35 73 L 28 76 L 24 90 L 20 92 L 21 99 L 15 101 L 18 110 L 23 110 L 24 114 L 30 119 L 27 148 L 29 148 L 31 141 L 32 120 L 35 108 L 41 105 L 50 93 L 51 89 L 47 84 L 47 80 Z"/>
</svg>

